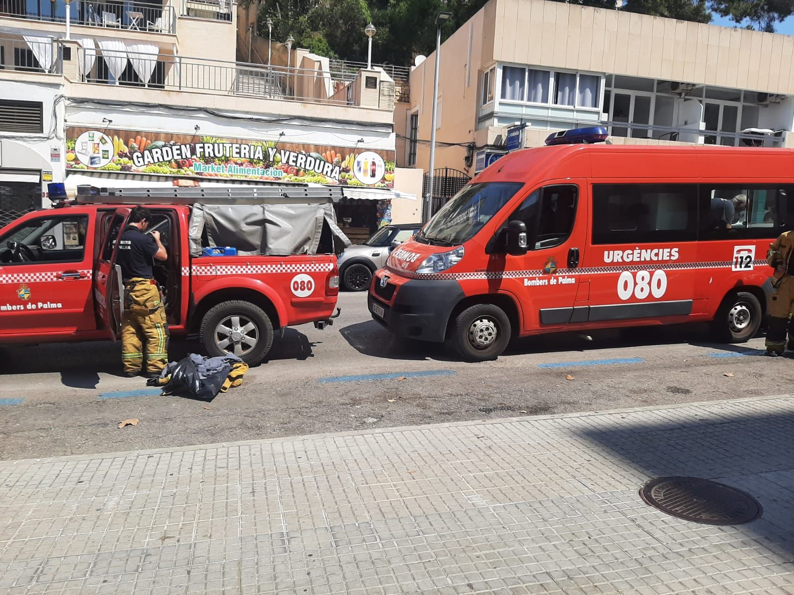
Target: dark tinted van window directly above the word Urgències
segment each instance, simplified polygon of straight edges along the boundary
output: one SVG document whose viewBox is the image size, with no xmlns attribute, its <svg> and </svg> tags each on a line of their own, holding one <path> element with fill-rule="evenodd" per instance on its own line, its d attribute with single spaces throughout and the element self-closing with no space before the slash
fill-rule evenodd
<svg viewBox="0 0 794 595">
<path fill-rule="evenodd" d="M 593 185 L 593 244 L 690 242 L 696 237 L 696 185 Z"/>
</svg>

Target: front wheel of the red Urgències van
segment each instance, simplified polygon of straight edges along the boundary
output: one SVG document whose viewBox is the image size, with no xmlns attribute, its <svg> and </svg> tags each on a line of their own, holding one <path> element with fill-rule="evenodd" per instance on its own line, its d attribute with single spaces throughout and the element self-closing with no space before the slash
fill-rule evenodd
<svg viewBox="0 0 794 595">
<path fill-rule="evenodd" d="M 485 362 L 502 354 L 510 335 L 510 320 L 503 309 L 476 304 L 457 315 L 448 341 L 466 361 Z"/>
</svg>

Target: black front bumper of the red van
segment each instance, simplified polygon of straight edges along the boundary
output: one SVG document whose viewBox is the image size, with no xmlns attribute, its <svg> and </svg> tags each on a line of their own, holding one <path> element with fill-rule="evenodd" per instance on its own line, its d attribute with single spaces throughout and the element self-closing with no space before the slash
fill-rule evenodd
<svg viewBox="0 0 794 595">
<path fill-rule="evenodd" d="M 399 337 L 436 343 L 445 339 L 449 316 L 464 298 L 457 281 L 410 279 L 396 288 L 391 303 L 373 293 L 378 282 L 379 277 L 372 279 L 367 298 L 372 318 Z"/>
</svg>

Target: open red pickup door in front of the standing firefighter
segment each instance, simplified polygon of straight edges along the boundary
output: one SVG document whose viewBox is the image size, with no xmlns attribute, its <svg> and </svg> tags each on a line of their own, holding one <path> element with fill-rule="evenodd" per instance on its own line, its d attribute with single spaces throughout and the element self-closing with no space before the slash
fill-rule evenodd
<svg viewBox="0 0 794 595">
<path fill-rule="evenodd" d="M 115 341 L 121 334 L 121 317 L 124 314 L 124 281 L 121 267 L 116 264 L 118 242 L 127 226 L 130 209 L 118 209 L 102 235 L 102 251 L 94 270 L 94 304 L 97 317 Z"/>
</svg>

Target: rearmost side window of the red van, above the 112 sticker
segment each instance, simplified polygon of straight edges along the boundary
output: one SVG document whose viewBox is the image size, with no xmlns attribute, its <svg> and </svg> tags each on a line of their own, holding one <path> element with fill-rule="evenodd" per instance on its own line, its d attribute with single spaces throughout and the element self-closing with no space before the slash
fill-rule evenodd
<svg viewBox="0 0 794 595">
<path fill-rule="evenodd" d="M 701 185 L 700 240 L 777 237 L 785 225 L 778 211 L 781 202 L 788 207 L 788 190 L 757 184 Z"/>
</svg>

